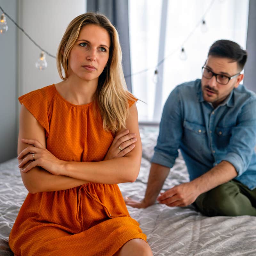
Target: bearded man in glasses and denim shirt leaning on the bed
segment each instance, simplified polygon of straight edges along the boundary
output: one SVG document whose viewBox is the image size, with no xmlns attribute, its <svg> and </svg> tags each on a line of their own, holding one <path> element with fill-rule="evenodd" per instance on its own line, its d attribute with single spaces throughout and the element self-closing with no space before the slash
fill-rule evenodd
<svg viewBox="0 0 256 256">
<path fill-rule="evenodd" d="M 167 99 L 151 159 L 145 198 L 126 204 L 194 203 L 207 216 L 256 216 L 256 95 L 239 83 L 247 52 L 235 42 L 216 41 L 202 79 L 177 86 Z M 190 182 L 158 196 L 178 148 Z M 158 197 L 157 197 L 158 196 Z"/>
</svg>

